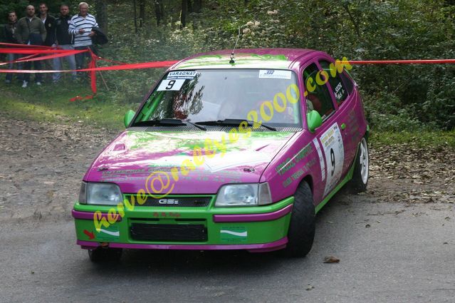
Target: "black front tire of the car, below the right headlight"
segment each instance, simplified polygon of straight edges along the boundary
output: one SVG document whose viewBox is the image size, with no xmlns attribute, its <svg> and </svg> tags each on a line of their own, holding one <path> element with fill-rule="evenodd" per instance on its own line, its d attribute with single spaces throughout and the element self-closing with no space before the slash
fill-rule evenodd
<svg viewBox="0 0 455 303">
<path fill-rule="evenodd" d="M 310 186 L 302 181 L 294 195 L 294 205 L 288 230 L 288 244 L 283 250 L 287 257 L 305 257 L 315 237 L 315 205 Z"/>
</svg>

